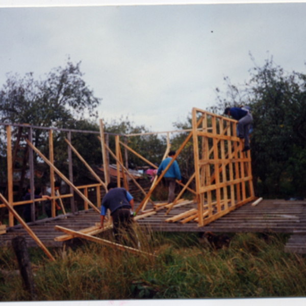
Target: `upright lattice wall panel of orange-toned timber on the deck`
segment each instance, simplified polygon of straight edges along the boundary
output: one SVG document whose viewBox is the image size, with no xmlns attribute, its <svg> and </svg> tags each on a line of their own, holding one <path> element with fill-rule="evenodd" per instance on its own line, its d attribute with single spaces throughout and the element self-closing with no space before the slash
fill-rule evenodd
<svg viewBox="0 0 306 306">
<path fill-rule="evenodd" d="M 197 130 L 198 113 L 202 117 L 202 131 Z M 233 119 L 196 108 L 192 110 L 198 226 L 254 199 L 250 151 L 241 152 L 236 124 Z M 216 205 L 212 198 L 216 199 Z"/>
</svg>

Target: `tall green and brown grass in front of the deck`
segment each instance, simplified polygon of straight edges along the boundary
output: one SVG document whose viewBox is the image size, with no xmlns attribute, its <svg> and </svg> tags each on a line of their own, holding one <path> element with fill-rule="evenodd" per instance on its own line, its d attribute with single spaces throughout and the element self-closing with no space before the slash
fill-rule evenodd
<svg viewBox="0 0 306 306">
<path fill-rule="evenodd" d="M 214 250 L 192 233 L 141 237 L 135 256 L 87 243 L 52 250 L 49 262 L 29 249 L 39 300 L 305 296 L 304 256 L 284 253 L 288 235 L 232 234 L 230 247 Z M 264 239 L 265 238 L 265 239 Z M 0 269 L 17 270 L 12 249 L 0 249 Z M 27 300 L 19 275 L 0 272 L 0 300 Z"/>
</svg>

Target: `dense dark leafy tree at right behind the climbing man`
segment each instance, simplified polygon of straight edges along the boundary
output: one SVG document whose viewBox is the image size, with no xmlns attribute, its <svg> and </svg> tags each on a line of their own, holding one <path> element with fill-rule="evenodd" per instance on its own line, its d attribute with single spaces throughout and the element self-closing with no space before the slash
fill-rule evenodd
<svg viewBox="0 0 306 306">
<path fill-rule="evenodd" d="M 263 67 L 250 70 L 250 80 L 227 92 L 214 111 L 223 113 L 227 106 L 249 105 L 253 116 L 251 157 L 254 185 L 270 196 L 305 194 L 306 160 L 306 75 L 284 71 L 272 57 Z"/>
</svg>

